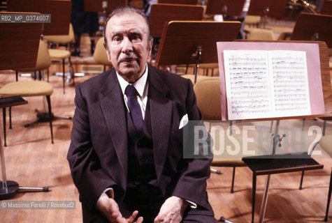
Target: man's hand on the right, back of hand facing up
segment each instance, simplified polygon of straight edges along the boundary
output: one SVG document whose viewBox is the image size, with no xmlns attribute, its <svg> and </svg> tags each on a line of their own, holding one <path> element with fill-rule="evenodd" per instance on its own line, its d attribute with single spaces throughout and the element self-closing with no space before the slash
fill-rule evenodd
<svg viewBox="0 0 332 223">
<path fill-rule="evenodd" d="M 169 197 L 163 203 L 154 223 L 180 223 L 188 203 L 179 197 Z"/>
</svg>

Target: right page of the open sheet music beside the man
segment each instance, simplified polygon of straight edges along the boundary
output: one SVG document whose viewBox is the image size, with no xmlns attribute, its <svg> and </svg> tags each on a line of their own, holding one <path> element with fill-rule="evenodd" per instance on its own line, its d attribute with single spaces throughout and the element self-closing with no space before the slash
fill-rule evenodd
<svg viewBox="0 0 332 223">
<path fill-rule="evenodd" d="M 305 52 L 273 50 L 268 56 L 273 77 L 274 116 L 311 114 Z"/>
</svg>

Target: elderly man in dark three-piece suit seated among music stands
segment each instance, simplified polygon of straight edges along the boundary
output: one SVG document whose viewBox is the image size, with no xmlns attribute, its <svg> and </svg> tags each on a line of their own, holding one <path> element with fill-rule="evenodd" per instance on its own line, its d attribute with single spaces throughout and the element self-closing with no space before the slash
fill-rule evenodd
<svg viewBox="0 0 332 223">
<path fill-rule="evenodd" d="M 114 68 L 77 86 L 68 151 L 83 221 L 217 222 L 211 159 L 183 157 L 182 122 L 201 120 L 192 82 L 147 65 L 152 37 L 140 10 L 117 8 L 104 45 Z"/>
</svg>

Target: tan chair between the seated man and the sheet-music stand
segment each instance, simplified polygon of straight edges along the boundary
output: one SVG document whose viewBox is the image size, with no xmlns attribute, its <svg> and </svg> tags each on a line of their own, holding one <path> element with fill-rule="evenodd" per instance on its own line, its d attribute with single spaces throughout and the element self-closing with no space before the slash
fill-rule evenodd
<svg viewBox="0 0 332 223">
<path fill-rule="evenodd" d="M 197 98 L 197 106 L 199 107 L 202 115 L 203 121 L 220 121 L 222 120 L 221 112 L 221 98 L 220 98 L 220 79 L 219 77 L 205 77 L 204 79 L 199 79 L 194 85 L 194 91 Z M 210 124 L 211 126 L 211 124 Z M 211 128 L 210 128 L 211 129 Z M 225 131 L 226 132 L 226 131 Z M 226 134 L 230 134 L 226 132 Z M 220 141 L 219 135 L 211 135 L 214 138 L 214 141 Z M 235 137 L 235 136 L 234 136 Z M 236 140 L 239 141 L 240 145 L 242 139 Z M 229 140 L 229 137 L 224 137 L 224 148 L 226 146 L 233 146 L 233 143 Z M 215 145 L 213 146 L 215 151 Z M 242 146 L 241 146 L 242 149 Z M 219 150 L 219 149 L 218 149 Z M 257 148 L 254 148 L 248 144 L 248 150 L 258 151 Z M 242 161 L 242 155 L 237 155 L 232 157 L 231 155 L 223 153 L 222 155 L 217 155 L 213 157 L 211 167 L 233 167 L 233 176 L 231 183 L 231 193 L 233 193 L 233 186 L 235 180 L 236 167 L 247 167 L 245 162 Z"/>
</svg>

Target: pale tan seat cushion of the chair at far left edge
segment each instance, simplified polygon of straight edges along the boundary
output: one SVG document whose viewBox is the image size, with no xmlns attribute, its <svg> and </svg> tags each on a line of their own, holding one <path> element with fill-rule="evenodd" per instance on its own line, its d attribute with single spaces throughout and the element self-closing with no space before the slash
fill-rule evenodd
<svg viewBox="0 0 332 223">
<path fill-rule="evenodd" d="M 41 96 L 52 95 L 53 87 L 48 82 L 43 81 L 22 81 L 10 82 L 5 84 L 0 89 L 0 97 L 8 97 L 21 95 L 22 97 L 28 96 Z"/>
</svg>

